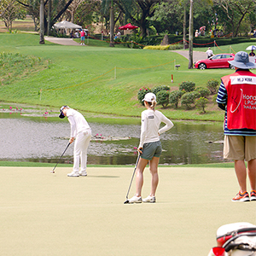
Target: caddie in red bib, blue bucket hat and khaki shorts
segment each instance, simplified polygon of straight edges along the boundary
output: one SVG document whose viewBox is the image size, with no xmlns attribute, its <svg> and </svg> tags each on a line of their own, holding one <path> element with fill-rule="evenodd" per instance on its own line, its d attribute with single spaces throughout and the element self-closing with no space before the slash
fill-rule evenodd
<svg viewBox="0 0 256 256">
<path fill-rule="evenodd" d="M 224 159 L 235 160 L 240 186 L 232 201 L 256 201 L 256 74 L 249 71 L 255 66 L 244 51 L 236 53 L 234 61 L 229 62 L 236 73 L 221 79 L 216 102 L 225 110 Z"/>
</svg>

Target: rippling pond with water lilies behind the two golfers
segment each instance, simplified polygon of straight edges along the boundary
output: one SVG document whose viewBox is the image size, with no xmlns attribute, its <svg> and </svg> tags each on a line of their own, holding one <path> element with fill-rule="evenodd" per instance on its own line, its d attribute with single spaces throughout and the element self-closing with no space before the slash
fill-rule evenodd
<svg viewBox="0 0 256 256">
<path fill-rule="evenodd" d="M 58 118 L 58 109 L 22 107 L 20 110 L 20 105 L 17 107 L 14 103 L 0 102 L 0 160 L 55 163 L 67 147 L 70 133 L 67 119 Z M 83 114 L 94 135 L 88 148 L 88 164 L 134 165 L 140 137 L 140 119 L 130 118 L 124 121 L 108 118 L 105 122 L 100 115 Z M 175 120 L 173 123 L 174 127 L 160 136 L 164 149 L 160 164 L 224 161 L 221 123 Z M 61 162 L 73 162 L 73 144 L 67 149 Z"/>
</svg>

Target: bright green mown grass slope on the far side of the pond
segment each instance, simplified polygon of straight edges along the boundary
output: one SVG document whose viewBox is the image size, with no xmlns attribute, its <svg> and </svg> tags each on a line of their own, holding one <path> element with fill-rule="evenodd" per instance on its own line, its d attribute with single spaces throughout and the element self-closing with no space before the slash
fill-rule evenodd
<svg viewBox="0 0 256 256">
<path fill-rule="evenodd" d="M 0 33 L 0 40 L 0 52 L 33 55 L 48 63 L 44 70 L 31 73 L 26 79 L 1 86 L 1 101 L 57 108 L 67 104 L 93 113 L 140 116 L 143 107 L 137 102 L 137 91 L 143 86 L 153 88 L 166 84 L 177 90 L 183 81 L 194 81 L 196 86 L 206 87 L 209 79 L 219 80 L 233 73 L 230 69 L 189 70 L 188 60 L 170 51 L 62 46 L 47 41 L 40 45 L 38 35 L 19 33 Z M 247 45 L 249 43 L 235 44 L 232 49 L 238 51 Z M 228 48 L 216 49 L 216 53 Z M 181 65 L 178 71 L 174 63 Z M 181 107 L 161 109 L 159 106 L 158 109 L 171 119 L 222 121 L 224 115 L 213 103 L 206 108 L 206 114 Z"/>
</svg>

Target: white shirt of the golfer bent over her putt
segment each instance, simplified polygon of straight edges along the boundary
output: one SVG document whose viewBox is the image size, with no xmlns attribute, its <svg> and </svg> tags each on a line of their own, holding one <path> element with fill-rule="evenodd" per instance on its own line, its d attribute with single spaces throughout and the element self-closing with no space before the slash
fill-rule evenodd
<svg viewBox="0 0 256 256">
<path fill-rule="evenodd" d="M 70 137 L 76 137 L 79 132 L 90 129 L 87 121 L 84 119 L 82 113 L 74 110 L 73 108 L 67 109 L 67 119 L 70 123 L 71 135 Z"/>
</svg>

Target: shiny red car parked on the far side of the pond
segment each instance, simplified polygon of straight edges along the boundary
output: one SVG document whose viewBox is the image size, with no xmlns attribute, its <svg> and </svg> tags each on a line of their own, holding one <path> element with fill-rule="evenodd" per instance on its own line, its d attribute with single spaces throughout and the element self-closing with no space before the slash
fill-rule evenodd
<svg viewBox="0 0 256 256">
<path fill-rule="evenodd" d="M 235 55 L 234 54 L 219 54 L 213 55 L 209 59 L 196 61 L 195 68 L 206 69 L 206 68 L 222 68 L 229 67 L 234 69 L 232 65 L 228 61 L 233 61 Z"/>
</svg>

